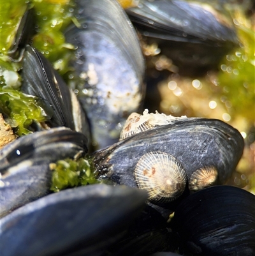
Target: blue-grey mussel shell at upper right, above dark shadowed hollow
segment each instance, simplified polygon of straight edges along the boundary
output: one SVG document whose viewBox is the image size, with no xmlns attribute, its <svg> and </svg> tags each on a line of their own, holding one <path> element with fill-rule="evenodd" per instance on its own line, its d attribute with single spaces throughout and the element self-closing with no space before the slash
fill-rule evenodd
<svg viewBox="0 0 255 256">
<path fill-rule="evenodd" d="M 237 42 L 233 23 L 227 24 L 212 9 L 180 0 L 142 0 L 126 12 L 146 36 L 189 43 Z"/>
</svg>

